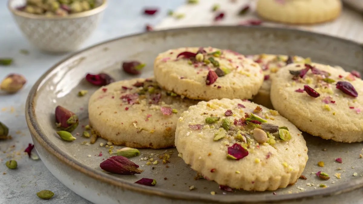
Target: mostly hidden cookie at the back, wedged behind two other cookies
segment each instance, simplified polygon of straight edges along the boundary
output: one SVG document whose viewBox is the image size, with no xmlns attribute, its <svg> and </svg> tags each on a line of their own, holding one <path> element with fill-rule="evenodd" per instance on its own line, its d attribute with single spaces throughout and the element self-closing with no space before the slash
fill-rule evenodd
<svg viewBox="0 0 363 204">
<path fill-rule="evenodd" d="M 271 80 L 275 76 L 275 73 L 286 64 L 291 64 L 293 62 L 311 62 L 310 58 L 302 58 L 299 56 L 286 56 L 286 55 L 274 55 L 274 54 L 257 54 L 246 56 L 252 58 L 253 61 L 257 62 L 264 72 L 265 78 L 261 89 L 258 90 L 258 94 L 253 97 L 253 102 L 261 104 L 262 106 L 273 109 L 272 103 L 270 101 L 270 89 Z"/>
</svg>

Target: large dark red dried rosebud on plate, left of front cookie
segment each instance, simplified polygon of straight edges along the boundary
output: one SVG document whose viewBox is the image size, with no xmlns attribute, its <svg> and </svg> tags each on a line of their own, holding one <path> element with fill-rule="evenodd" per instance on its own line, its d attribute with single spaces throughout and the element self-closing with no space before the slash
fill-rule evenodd
<svg viewBox="0 0 363 204">
<path fill-rule="evenodd" d="M 99 164 L 102 170 L 123 175 L 141 174 L 142 170 L 138 169 L 139 165 L 131 162 L 123 156 L 111 156 Z"/>
</svg>

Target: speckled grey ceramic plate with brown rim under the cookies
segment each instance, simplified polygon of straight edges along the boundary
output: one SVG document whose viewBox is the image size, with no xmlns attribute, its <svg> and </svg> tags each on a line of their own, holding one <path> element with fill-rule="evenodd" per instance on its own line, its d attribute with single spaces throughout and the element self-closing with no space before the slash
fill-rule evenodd
<svg viewBox="0 0 363 204">
<path fill-rule="evenodd" d="M 339 65 L 346 70 L 362 71 L 362 46 L 351 41 L 298 30 L 264 27 L 200 27 L 183 28 L 137 34 L 103 42 L 73 54 L 46 72 L 33 86 L 26 105 L 26 120 L 33 136 L 35 147 L 45 165 L 62 183 L 82 197 L 94 203 L 300 203 L 306 199 L 318 199 L 319 203 L 332 195 L 354 191 L 363 185 L 360 177 L 363 159 L 362 143 L 337 143 L 311 135 L 304 135 L 309 148 L 309 161 L 303 175 L 295 185 L 279 189 L 276 195 L 266 192 L 223 192 L 214 181 L 194 180 L 196 172 L 178 157 L 175 148 L 163 150 L 141 150 L 141 156 L 131 160 L 144 170 L 139 175 L 113 175 L 102 172 L 99 163 L 108 158 L 108 148 L 100 147 L 106 141 L 99 138 L 93 145 L 81 144 L 89 139 L 75 135 L 77 140 L 65 142 L 56 135 L 54 109 L 57 105 L 77 113 L 80 125 L 74 131 L 82 134 L 82 125 L 87 125 L 87 103 L 97 87 L 85 81 L 86 73 L 106 72 L 115 79 L 129 79 L 120 69 L 124 60 L 139 60 L 147 66 L 140 77 L 152 75 L 154 58 L 164 50 L 183 46 L 213 46 L 231 49 L 243 54 L 290 54 L 311 57 L 315 62 Z M 89 90 L 85 97 L 78 97 L 79 90 Z M 316 124 L 319 125 L 319 124 Z M 115 148 L 121 148 L 115 147 Z M 326 149 L 326 151 L 322 151 Z M 99 156 L 102 152 L 102 156 Z M 149 158 L 156 154 L 173 152 L 168 168 L 165 164 L 147 166 Z M 343 163 L 335 162 L 342 158 Z M 160 161 L 160 160 L 159 160 Z M 319 167 L 319 161 L 325 167 Z M 337 170 L 341 168 L 342 170 Z M 312 172 L 327 172 L 331 179 L 319 180 Z M 353 176 L 354 172 L 358 176 Z M 340 173 L 341 179 L 334 174 Z M 140 178 L 156 179 L 155 187 L 134 184 Z M 307 185 L 310 183 L 310 185 Z M 324 183 L 328 188 L 316 185 Z M 194 185 L 195 189 L 189 190 Z M 216 195 L 211 195 L 215 191 Z M 330 200 L 337 200 L 333 197 Z M 340 196 L 342 198 L 342 196 Z M 320 201 L 319 201 L 320 199 Z M 323 200 L 321 200 L 323 199 Z M 343 198 L 344 199 L 344 198 Z"/>
</svg>

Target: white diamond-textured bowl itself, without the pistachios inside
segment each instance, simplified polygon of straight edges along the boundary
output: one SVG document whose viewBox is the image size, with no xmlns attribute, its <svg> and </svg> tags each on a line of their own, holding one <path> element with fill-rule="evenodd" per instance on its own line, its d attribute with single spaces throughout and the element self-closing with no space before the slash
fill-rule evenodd
<svg viewBox="0 0 363 204">
<path fill-rule="evenodd" d="M 8 8 L 31 44 L 48 52 L 69 52 L 79 48 L 97 28 L 102 19 L 107 0 L 99 0 L 99 6 L 69 16 L 45 17 L 18 11 L 25 0 L 9 0 Z"/>
</svg>

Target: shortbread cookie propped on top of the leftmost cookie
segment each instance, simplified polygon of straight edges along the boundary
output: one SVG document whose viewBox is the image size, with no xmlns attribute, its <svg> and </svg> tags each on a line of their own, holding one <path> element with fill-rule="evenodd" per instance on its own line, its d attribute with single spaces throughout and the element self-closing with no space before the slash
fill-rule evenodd
<svg viewBox="0 0 363 204">
<path fill-rule="evenodd" d="M 192 99 L 251 99 L 264 76 L 244 55 L 216 48 L 179 48 L 159 54 L 156 81 L 164 89 Z"/>
</svg>

